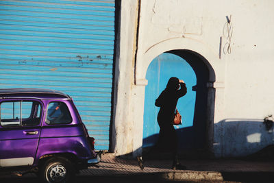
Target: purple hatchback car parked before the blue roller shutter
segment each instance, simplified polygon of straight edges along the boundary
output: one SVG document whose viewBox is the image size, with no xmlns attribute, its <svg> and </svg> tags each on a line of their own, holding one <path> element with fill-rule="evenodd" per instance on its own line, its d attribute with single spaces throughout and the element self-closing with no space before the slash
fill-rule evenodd
<svg viewBox="0 0 274 183">
<path fill-rule="evenodd" d="M 73 99 L 57 90 L 0 89 L 0 171 L 69 182 L 100 162 Z"/>
</svg>

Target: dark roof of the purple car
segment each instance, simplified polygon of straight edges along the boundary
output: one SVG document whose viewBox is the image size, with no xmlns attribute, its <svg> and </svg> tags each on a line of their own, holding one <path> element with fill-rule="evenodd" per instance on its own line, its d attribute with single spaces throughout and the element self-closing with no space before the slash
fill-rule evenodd
<svg viewBox="0 0 274 183">
<path fill-rule="evenodd" d="M 5 88 L 0 89 L 0 98 L 38 98 L 38 99 L 71 99 L 58 90 L 41 88 Z"/>
</svg>

